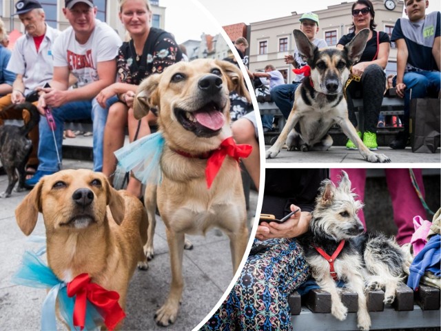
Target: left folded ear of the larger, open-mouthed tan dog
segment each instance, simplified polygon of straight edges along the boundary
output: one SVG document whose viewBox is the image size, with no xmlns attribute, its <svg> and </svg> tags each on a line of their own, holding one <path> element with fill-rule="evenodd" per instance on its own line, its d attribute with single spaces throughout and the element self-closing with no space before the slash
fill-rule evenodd
<svg viewBox="0 0 441 331">
<path fill-rule="evenodd" d="M 135 119 L 142 119 L 150 111 L 153 106 L 158 106 L 157 99 L 157 88 L 160 79 L 159 74 L 152 74 L 152 76 L 147 77 L 136 90 L 136 97 L 133 101 L 133 113 Z"/>
</svg>

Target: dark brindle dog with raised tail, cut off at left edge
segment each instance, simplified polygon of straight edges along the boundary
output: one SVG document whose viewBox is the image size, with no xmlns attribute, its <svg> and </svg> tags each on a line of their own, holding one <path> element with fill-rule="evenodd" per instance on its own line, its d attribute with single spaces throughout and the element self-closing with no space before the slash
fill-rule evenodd
<svg viewBox="0 0 441 331">
<path fill-rule="evenodd" d="M 19 184 L 15 191 L 21 192 L 25 189 L 25 166 L 32 151 L 32 142 L 28 139 L 28 133 L 34 126 L 38 125 L 40 120 L 37 107 L 30 102 L 11 105 L 10 107 L 15 108 L 17 112 L 28 110 L 30 121 L 20 127 L 0 126 L 0 161 L 8 175 L 8 187 L 5 192 L 0 194 L 0 198 L 10 197 L 17 181 L 19 181 Z"/>
</svg>

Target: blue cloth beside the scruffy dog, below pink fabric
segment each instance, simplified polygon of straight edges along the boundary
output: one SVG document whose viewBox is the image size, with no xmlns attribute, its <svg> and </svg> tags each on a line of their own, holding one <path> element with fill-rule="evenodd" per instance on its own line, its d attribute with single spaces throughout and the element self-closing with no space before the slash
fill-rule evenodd
<svg viewBox="0 0 441 331">
<path fill-rule="evenodd" d="M 440 278 L 440 234 L 431 237 L 424 248 L 413 259 L 409 268 L 407 286 L 415 290 L 420 285 L 420 279 L 424 272 L 430 271 L 435 277 Z"/>
</svg>

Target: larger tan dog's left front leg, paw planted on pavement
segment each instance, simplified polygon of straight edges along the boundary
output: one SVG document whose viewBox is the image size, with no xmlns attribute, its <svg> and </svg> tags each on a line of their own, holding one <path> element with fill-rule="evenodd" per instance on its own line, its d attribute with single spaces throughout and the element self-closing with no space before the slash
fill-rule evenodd
<svg viewBox="0 0 441 331">
<path fill-rule="evenodd" d="M 164 221 L 164 223 L 167 224 L 169 222 Z M 166 229 L 166 233 L 170 250 L 170 263 L 172 265 L 172 284 L 170 285 L 167 300 L 163 306 L 156 311 L 154 317 L 156 324 L 161 326 L 167 326 L 176 321 L 184 285 L 182 277 L 184 234 L 173 232 L 168 228 Z"/>
</svg>

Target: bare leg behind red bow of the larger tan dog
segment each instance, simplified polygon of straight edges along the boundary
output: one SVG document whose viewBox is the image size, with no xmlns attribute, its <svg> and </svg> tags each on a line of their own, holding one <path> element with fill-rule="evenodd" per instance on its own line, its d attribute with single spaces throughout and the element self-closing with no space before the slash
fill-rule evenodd
<svg viewBox="0 0 441 331">
<path fill-rule="evenodd" d="M 257 190 L 259 190 L 260 152 L 253 123 L 248 119 L 238 119 L 233 123 L 232 131 L 236 143 L 247 143 L 253 148 L 249 157 L 242 159 L 242 162 L 245 168 L 247 168 L 247 172 L 253 180 L 254 185 L 256 185 Z"/>
</svg>

